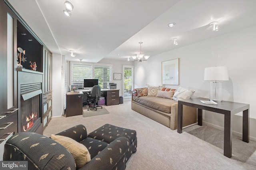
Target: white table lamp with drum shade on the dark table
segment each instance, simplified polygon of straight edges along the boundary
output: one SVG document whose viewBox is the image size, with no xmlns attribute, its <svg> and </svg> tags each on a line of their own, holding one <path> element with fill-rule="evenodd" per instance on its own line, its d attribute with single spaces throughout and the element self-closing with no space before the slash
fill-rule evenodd
<svg viewBox="0 0 256 170">
<path fill-rule="evenodd" d="M 204 80 L 210 80 L 210 101 L 222 102 L 222 82 L 229 80 L 228 77 L 228 67 L 225 66 L 215 66 L 207 67 L 204 69 Z"/>
</svg>

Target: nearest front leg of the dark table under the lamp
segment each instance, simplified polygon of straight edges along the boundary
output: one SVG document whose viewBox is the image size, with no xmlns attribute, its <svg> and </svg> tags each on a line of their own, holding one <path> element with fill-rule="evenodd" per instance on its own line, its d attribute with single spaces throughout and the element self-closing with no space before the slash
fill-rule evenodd
<svg viewBox="0 0 256 170">
<path fill-rule="evenodd" d="M 224 156 L 232 156 L 232 121 L 231 114 L 224 115 Z"/>
</svg>

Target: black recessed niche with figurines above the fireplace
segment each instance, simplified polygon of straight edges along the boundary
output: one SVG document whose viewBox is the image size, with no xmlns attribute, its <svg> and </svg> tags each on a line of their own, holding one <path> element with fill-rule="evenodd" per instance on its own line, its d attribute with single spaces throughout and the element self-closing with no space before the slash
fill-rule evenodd
<svg viewBox="0 0 256 170">
<path fill-rule="evenodd" d="M 43 72 L 43 45 L 17 20 L 17 47 L 21 48 L 20 53 L 17 49 L 17 63 L 22 68 L 32 70 L 34 62 L 36 63 L 36 71 Z M 31 63 L 30 63 L 31 62 Z"/>
</svg>

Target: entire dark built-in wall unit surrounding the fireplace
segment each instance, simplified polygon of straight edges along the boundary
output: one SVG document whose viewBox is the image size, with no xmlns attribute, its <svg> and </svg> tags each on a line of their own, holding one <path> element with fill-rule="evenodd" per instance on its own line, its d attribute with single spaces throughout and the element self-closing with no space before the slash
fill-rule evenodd
<svg viewBox="0 0 256 170">
<path fill-rule="evenodd" d="M 52 118 L 52 53 L 6 0 L 0 0 L 0 44 L 1 156 L 3 143 L 13 134 L 27 129 L 42 134 Z M 25 53 L 20 55 L 18 47 Z M 32 70 L 30 61 L 36 63 L 36 69 Z M 27 87 L 31 88 L 28 93 Z M 35 98 L 30 94 L 35 94 Z M 37 125 L 33 128 L 22 123 L 26 116 L 34 119 L 32 113 L 21 114 L 30 110 L 21 104 L 29 102 L 37 115 L 31 123 Z"/>
</svg>

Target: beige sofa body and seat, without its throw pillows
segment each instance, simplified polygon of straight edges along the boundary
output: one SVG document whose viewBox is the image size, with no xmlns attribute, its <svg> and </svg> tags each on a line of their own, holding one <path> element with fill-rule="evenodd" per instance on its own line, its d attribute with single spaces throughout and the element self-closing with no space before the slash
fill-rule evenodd
<svg viewBox="0 0 256 170">
<path fill-rule="evenodd" d="M 156 96 L 133 96 L 132 110 L 161 123 L 172 130 L 177 129 L 178 102 Z M 183 127 L 196 123 L 197 111 L 194 107 L 183 106 Z"/>
</svg>

